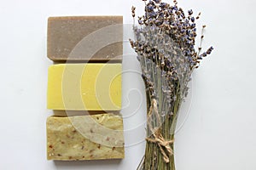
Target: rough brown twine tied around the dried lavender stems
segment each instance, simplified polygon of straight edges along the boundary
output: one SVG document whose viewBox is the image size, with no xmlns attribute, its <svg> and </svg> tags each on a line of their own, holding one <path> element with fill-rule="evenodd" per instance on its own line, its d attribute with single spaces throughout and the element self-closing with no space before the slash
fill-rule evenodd
<svg viewBox="0 0 256 170">
<path fill-rule="evenodd" d="M 156 117 L 157 117 L 158 121 L 160 122 L 160 115 L 157 111 L 157 102 L 155 99 L 152 100 L 152 104 L 150 105 L 150 108 L 148 111 L 148 116 L 151 116 L 153 113 L 156 114 Z M 148 142 L 157 144 L 160 148 L 160 152 L 163 156 L 164 161 L 166 161 L 166 163 L 169 163 L 170 159 L 169 159 L 169 156 L 167 156 L 167 155 L 173 155 L 173 150 L 172 150 L 170 144 L 173 144 L 174 140 L 164 139 L 163 135 L 160 133 L 160 127 L 158 127 L 157 129 L 154 129 L 152 127 L 151 123 L 148 123 L 148 127 L 149 127 L 151 133 L 153 134 L 154 139 L 146 138 L 146 140 L 148 140 Z M 164 148 L 166 150 L 164 150 Z"/>
</svg>

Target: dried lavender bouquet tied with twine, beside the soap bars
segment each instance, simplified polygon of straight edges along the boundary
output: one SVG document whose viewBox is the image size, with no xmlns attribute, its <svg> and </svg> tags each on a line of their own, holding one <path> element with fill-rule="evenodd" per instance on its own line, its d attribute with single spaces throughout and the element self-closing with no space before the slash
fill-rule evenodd
<svg viewBox="0 0 256 170">
<path fill-rule="evenodd" d="M 188 82 L 201 59 L 211 54 L 212 47 L 201 53 L 195 48 L 195 20 L 193 11 L 187 13 L 173 4 L 161 0 L 143 0 L 145 14 L 138 16 L 131 47 L 137 53 L 145 82 L 148 122 L 145 156 L 140 170 L 175 170 L 173 142 L 178 111 L 188 94 Z"/>
</svg>

